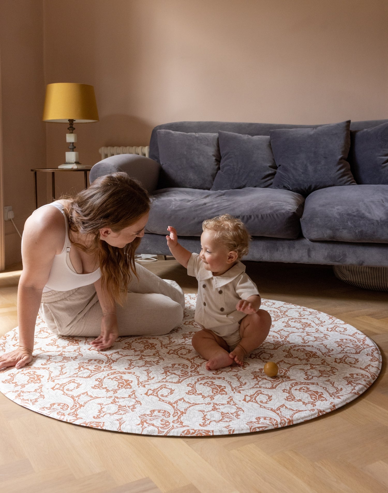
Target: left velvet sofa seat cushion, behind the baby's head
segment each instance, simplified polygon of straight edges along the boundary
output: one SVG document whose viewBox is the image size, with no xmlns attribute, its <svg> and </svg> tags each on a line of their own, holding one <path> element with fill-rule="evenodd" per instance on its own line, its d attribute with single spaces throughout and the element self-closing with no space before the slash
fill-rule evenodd
<svg viewBox="0 0 388 493">
<path fill-rule="evenodd" d="M 238 190 L 164 188 L 152 197 L 146 233 L 201 236 L 202 222 L 219 214 L 241 219 L 252 236 L 297 238 L 304 198 L 290 190 L 247 187 Z"/>
</svg>

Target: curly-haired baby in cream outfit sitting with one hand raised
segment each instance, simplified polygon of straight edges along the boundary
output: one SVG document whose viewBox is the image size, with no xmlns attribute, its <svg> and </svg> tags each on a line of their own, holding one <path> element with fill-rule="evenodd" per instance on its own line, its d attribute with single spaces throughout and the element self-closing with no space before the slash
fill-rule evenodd
<svg viewBox="0 0 388 493">
<path fill-rule="evenodd" d="M 194 320 L 202 327 L 194 334 L 193 347 L 216 370 L 257 349 L 267 337 L 271 316 L 260 309 L 257 286 L 245 273 L 240 258 L 248 252 L 250 236 L 245 225 L 229 214 L 202 223 L 201 253 L 179 245 L 176 229 L 169 226 L 167 245 L 187 274 L 198 280 Z"/>
</svg>

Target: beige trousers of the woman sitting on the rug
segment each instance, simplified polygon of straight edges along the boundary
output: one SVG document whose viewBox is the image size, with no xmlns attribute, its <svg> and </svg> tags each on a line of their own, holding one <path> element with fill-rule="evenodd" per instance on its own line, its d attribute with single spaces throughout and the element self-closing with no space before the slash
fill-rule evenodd
<svg viewBox="0 0 388 493">
<path fill-rule="evenodd" d="M 124 305 L 117 305 L 119 336 L 167 334 L 183 320 L 184 294 L 175 281 L 165 281 L 142 265 L 128 285 Z M 103 315 L 94 284 L 69 291 L 42 293 L 39 315 L 57 335 L 97 337 Z"/>
</svg>

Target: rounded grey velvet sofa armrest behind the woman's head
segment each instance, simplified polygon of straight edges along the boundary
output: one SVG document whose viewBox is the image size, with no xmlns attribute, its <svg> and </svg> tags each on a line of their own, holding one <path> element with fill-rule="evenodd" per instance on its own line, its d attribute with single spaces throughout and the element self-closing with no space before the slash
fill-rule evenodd
<svg viewBox="0 0 388 493">
<path fill-rule="evenodd" d="M 148 193 L 152 193 L 158 183 L 160 168 L 159 163 L 145 156 L 117 154 L 96 163 L 90 170 L 89 182 L 92 184 L 99 176 L 124 171 L 139 180 Z"/>
</svg>

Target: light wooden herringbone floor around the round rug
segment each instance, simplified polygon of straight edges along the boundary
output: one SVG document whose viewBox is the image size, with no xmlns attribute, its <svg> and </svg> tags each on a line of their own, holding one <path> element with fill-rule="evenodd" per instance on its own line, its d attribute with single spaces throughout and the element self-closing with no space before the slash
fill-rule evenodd
<svg viewBox="0 0 388 493">
<path fill-rule="evenodd" d="M 185 292 L 173 259 L 143 265 Z M 246 435 L 129 435 L 63 423 L 0 394 L 2 493 L 380 493 L 388 491 L 388 295 L 338 281 L 329 266 L 246 262 L 262 297 L 341 318 L 385 351 L 377 382 L 325 416 Z M 0 273 L 0 335 L 17 325 L 20 266 Z"/>
</svg>

